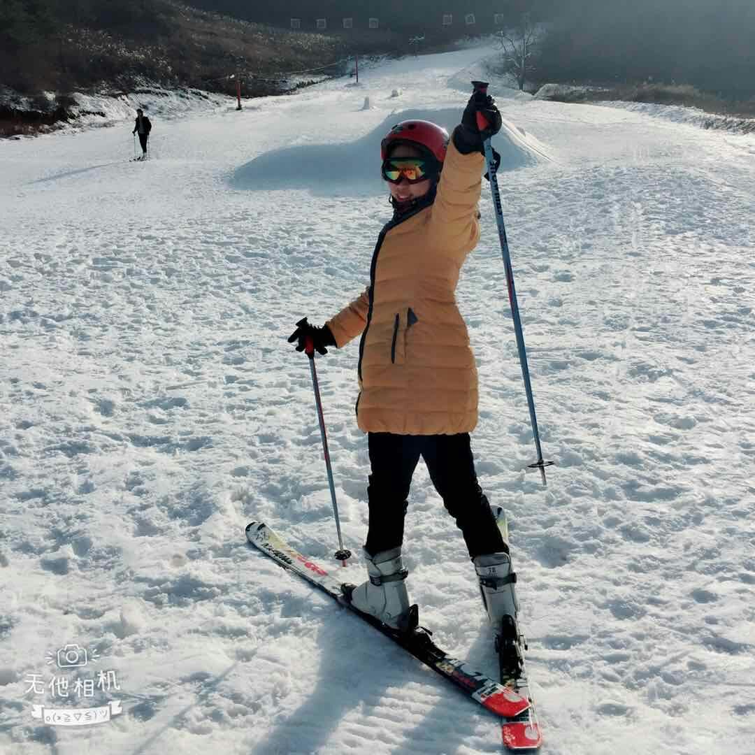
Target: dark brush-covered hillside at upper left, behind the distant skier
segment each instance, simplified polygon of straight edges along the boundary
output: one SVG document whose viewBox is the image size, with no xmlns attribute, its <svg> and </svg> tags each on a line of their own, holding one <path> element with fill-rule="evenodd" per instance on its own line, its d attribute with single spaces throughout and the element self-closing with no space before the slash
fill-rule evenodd
<svg viewBox="0 0 755 755">
<path fill-rule="evenodd" d="M 336 36 L 275 29 L 172 0 L 84 5 L 2 6 L 0 134 L 65 119 L 74 91 L 119 94 L 159 85 L 234 94 L 230 76 L 240 69 L 242 94 L 253 97 L 281 94 L 303 80 L 282 72 L 318 68 L 322 77 L 345 70 L 347 51 Z"/>
</svg>

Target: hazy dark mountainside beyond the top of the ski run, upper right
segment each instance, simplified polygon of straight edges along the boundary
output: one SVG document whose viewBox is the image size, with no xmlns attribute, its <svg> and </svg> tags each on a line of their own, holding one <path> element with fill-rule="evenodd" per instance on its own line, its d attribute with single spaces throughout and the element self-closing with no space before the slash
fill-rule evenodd
<svg viewBox="0 0 755 755">
<path fill-rule="evenodd" d="M 732 96 L 755 91 L 755 0 L 193 0 L 248 20 L 328 30 L 368 18 L 399 34 L 429 39 L 495 31 L 494 15 L 513 26 L 524 13 L 547 24 L 536 82 L 688 83 Z M 464 16 L 473 13 L 474 26 Z M 442 15 L 453 25 L 442 28 Z"/>
</svg>

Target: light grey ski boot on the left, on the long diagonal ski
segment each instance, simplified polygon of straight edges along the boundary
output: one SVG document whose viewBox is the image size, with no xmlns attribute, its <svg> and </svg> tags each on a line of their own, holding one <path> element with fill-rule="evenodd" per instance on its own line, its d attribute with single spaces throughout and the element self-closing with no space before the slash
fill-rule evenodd
<svg viewBox="0 0 755 755">
<path fill-rule="evenodd" d="M 417 624 L 417 609 L 409 606 L 405 584 L 408 572 L 401 559 L 401 548 L 383 550 L 374 556 L 366 550 L 363 553 L 369 580 L 358 587 L 348 586 L 351 605 L 392 629 L 400 632 L 413 630 Z"/>
</svg>

